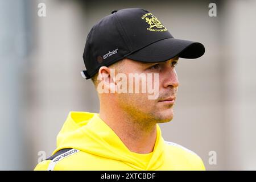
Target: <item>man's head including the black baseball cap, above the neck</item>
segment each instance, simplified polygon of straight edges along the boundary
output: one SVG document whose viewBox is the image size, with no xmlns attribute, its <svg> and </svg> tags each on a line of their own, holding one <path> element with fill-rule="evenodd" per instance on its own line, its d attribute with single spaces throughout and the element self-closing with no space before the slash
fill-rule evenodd
<svg viewBox="0 0 256 182">
<path fill-rule="evenodd" d="M 90 30 L 83 54 L 86 71 L 81 73 L 92 78 L 101 104 L 118 106 L 114 112 L 167 122 L 179 85 L 177 57 L 196 59 L 204 52 L 199 42 L 175 39 L 149 11 L 122 9 Z"/>
</svg>

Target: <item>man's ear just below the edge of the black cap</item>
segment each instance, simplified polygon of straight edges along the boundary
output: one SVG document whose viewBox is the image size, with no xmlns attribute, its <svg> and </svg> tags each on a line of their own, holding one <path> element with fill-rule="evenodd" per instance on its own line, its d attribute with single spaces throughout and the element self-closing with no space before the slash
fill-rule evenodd
<svg viewBox="0 0 256 182">
<path fill-rule="evenodd" d="M 115 93 L 115 72 L 114 69 L 101 67 L 98 71 L 98 92 L 100 93 Z M 104 92 L 102 92 L 104 87 Z M 100 90 L 99 90 L 100 89 Z"/>
</svg>

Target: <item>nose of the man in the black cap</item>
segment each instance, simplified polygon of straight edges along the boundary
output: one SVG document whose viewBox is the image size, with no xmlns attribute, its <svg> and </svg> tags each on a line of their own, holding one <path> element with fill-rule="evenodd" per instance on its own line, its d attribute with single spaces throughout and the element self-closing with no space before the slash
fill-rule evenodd
<svg viewBox="0 0 256 182">
<path fill-rule="evenodd" d="M 179 86 L 179 80 L 177 78 L 177 73 L 174 68 L 166 69 L 164 73 L 163 86 L 164 88 L 167 88 L 168 86 L 176 88 L 177 86 Z"/>
</svg>

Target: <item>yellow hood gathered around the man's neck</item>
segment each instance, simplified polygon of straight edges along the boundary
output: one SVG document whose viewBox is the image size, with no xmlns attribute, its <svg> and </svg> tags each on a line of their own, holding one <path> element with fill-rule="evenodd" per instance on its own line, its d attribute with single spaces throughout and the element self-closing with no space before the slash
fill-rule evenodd
<svg viewBox="0 0 256 182">
<path fill-rule="evenodd" d="M 164 162 L 164 140 L 158 124 L 154 151 L 138 154 L 130 151 L 98 113 L 70 111 L 60 133 L 57 148 L 76 148 L 108 159 L 120 160 L 135 170 L 156 170 Z M 147 162 L 145 163 L 144 161 Z"/>
</svg>

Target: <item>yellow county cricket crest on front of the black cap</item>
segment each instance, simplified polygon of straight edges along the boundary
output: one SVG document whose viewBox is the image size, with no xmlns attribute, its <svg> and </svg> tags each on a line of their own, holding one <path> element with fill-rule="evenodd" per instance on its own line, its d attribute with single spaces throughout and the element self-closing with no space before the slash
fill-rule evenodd
<svg viewBox="0 0 256 182">
<path fill-rule="evenodd" d="M 165 32 L 167 28 L 163 26 L 163 24 L 154 16 L 152 13 L 144 14 L 142 17 L 150 27 L 147 30 L 152 32 Z"/>
</svg>

